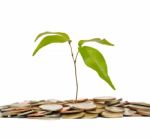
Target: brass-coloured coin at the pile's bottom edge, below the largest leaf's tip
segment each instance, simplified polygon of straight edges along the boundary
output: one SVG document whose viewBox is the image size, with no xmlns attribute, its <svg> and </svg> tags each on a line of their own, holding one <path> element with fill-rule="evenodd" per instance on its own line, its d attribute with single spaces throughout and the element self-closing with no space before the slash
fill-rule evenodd
<svg viewBox="0 0 150 139">
<path fill-rule="evenodd" d="M 102 117 L 105 118 L 121 118 L 123 117 L 123 113 L 114 113 L 114 112 L 108 112 L 108 111 L 104 111 L 102 112 Z"/>
</svg>

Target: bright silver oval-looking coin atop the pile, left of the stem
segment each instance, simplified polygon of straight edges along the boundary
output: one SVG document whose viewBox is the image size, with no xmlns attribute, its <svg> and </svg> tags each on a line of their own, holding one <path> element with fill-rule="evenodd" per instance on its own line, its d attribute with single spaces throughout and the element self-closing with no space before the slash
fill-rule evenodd
<svg viewBox="0 0 150 139">
<path fill-rule="evenodd" d="M 41 105 L 39 107 L 47 111 L 59 111 L 63 108 L 62 105 L 59 105 L 59 104 Z"/>
</svg>

